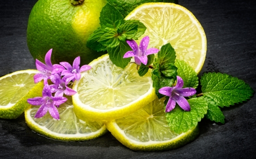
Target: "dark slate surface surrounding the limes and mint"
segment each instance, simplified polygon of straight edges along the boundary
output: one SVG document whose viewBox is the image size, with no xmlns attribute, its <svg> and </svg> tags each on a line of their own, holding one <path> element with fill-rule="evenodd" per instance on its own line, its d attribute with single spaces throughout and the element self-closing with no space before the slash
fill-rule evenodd
<svg viewBox="0 0 256 159">
<path fill-rule="evenodd" d="M 207 58 L 201 72 L 236 76 L 256 90 L 256 1 L 179 2 L 193 12 L 207 35 Z M 0 76 L 35 68 L 26 44 L 27 20 L 35 3 L 35 0 L 0 2 Z M 47 139 L 31 131 L 22 114 L 14 120 L 0 119 L 0 158 L 254 158 L 255 103 L 253 97 L 222 109 L 225 124 L 203 119 L 195 141 L 166 152 L 131 151 L 109 132 L 82 142 Z"/>
</svg>

